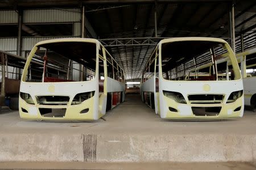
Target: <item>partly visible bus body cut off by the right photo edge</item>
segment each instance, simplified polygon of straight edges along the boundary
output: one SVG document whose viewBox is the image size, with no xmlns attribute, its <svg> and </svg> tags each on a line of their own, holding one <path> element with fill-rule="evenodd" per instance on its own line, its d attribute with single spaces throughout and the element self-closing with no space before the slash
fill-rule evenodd
<svg viewBox="0 0 256 170">
<path fill-rule="evenodd" d="M 254 111 L 256 107 L 256 48 L 248 49 L 236 56 L 241 66 L 245 105 Z"/>
</svg>

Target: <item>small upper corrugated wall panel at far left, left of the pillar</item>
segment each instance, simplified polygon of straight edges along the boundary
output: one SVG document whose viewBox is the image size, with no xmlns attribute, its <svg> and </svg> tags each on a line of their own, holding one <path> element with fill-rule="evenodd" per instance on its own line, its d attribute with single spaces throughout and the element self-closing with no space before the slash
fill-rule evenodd
<svg viewBox="0 0 256 170">
<path fill-rule="evenodd" d="M 0 11 L 0 24 L 18 23 L 18 13 L 15 11 Z"/>
</svg>

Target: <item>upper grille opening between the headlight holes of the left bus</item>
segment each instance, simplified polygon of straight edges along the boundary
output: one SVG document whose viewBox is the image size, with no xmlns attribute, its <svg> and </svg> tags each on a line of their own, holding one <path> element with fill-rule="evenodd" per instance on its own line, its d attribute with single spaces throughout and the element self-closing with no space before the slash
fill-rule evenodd
<svg viewBox="0 0 256 170">
<path fill-rule="evenodd" d="M 41 105 L 67 105 L 69 96 L 36 96 L 36 102 Z"/>
</svg>

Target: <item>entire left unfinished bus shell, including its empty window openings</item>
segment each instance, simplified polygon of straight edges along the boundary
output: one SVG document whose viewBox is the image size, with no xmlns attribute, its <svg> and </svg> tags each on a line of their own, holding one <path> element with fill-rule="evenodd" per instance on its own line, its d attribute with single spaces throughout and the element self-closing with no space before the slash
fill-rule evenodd
<svg viewBox="0 0 256 170">
<path fill-rule="evenodd" d="M 43 63 L 35 68 L 33 62 Z M 31 50 L 19 114 L 35 120 L 97 120 L 125 99 L 121 67 L 94 39 L 55 39 Z"/>
</svg>

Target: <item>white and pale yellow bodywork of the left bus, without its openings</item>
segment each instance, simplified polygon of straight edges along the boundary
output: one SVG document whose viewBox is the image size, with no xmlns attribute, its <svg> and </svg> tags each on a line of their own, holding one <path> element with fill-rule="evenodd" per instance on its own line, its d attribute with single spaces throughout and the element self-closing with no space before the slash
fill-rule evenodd
<svg viewBox="0 0 256 170">
<path fill-rule="evenodd" d="M 37 46 L 52 42 L 92 42 L 96 44 L 96 74 L 93 80 L 83 82 L 26 82 L 28 66 L 34 56 Z M 21 118 L 32 120 L 98 120 L 106 113 L 107 94 L 109 92 L 121 92 L 122 99 L 125 99 L 125 84 L 108 77 L 106 73 L 106 57 L 104 51 L 104 92 L 99 92 L 99 55 L 98 49 L 101 44 L 94 39 L 55 39 L 38 42 L 28 56 L 24 66 L 20 92 L 30 94 L 35 104 L 28 104 L 19 96 L 19 114 Z M 105 50 L 105 49 L 104 49 Z M 71 105 L 73 98 L 80 93 L 94 91 L 94 96 L 83 101 L 81 104 Z M 40 105 L 36 102 L 36 96 L 69 96 L 67 105 Z M 26 112 L 23 112 L 23 109 Z M 40 114 L 39 108 L 66 109 L 63 117 L 45 117 Z M 89 109 L 87 113 L 80 113 L 84 109 Z"/>
</svg>

